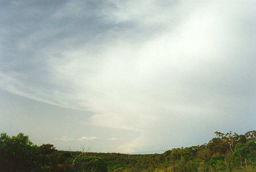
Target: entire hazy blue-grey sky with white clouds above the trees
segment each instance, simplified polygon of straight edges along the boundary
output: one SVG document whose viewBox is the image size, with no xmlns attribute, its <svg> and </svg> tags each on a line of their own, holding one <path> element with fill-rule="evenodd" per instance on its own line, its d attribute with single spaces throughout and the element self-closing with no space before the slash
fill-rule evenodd
<svg viewBox="0 0 256 172">
<path fill-rule="evenodd" d="M 255 1 L 1 1 L 0 132 L 162 153 L 256 123 Z"/>
</svg>

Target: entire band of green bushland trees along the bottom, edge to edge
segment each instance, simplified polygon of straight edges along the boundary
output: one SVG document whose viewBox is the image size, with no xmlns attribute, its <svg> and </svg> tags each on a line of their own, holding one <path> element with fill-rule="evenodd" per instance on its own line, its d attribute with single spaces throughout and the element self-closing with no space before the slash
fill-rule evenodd
<svg viewBox="0 0 256 172">
<path fill-rule="evenodd" d="M 201 146 L 129 155 L 57 151 L 52 144 L 32 144 L 22 133 L 2 133 L 0 171 L 256 171 L 256 131 L 215 134 Z"/>
</svg>

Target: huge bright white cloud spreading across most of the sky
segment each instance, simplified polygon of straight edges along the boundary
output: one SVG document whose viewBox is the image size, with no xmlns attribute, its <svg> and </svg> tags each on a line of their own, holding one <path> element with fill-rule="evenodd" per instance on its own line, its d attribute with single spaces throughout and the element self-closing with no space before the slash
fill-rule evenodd
<svg viewBox="0 0 256 172">
<path fill-rule="evenodd" d="M 241 99 L 253 104 L 256 62 L 247 54 L 255 55 L 251 47 L 255 45 L 251 36 L 256 23 L 251 17 L 255 14 L 253 5 L 239 9 L 233 8 L 237 7 L 234 2 L 111 1 L 104 5 L 96 9 L 96 16 L 90 13 L 97 19 L 87 23 L 91 30 L 80 30 L 85 26 L 77 25 L 75 34 L 65 33 L 72 29 L 64 25 L 20 38 L 17 44 L 25 42 L 27 51 L 35 49 L 41 59 L 37 63 L 45 68 L 43 72 L 37 68 L 27 73 L 0 71 L 0 88 L 49 104 L 94 112 L 82 121 L 85 125 L 141 133 L 131 143 L 119 145 L 118 149 L 126 152 L 147 143 L 168 142 L 168 137 L 181 133 L 189 135 L 191 123 L 198 122 L 200 129 L 205 122 L 211 125 L 213 116 L 227 116 L 230 109 L 240 108 Z M 51 20 L 68 17 L 68 11 L 79 21 L 75 26 L 80 16 L 87 15 L 82 7 L 68 2 Z M 244 21 L 252 23 L 253 34 Z M 56 33 L 46 34 L 48 31 Z M 51 45 L 35 46 L 60 33 L 64 38 L 56 37 Z M 22 66 L 23 60 L 18 60 Z M 15 70 L 10 67 L 7 71 Z M 35 71 L 38 75 L 33 74 Z M 42 83 L 36 83 L 35 78 Z M 199 122 L 201 119 L 205 121 Z M 168 137 L 161 138 L 162 133 Z"/>
</svg>

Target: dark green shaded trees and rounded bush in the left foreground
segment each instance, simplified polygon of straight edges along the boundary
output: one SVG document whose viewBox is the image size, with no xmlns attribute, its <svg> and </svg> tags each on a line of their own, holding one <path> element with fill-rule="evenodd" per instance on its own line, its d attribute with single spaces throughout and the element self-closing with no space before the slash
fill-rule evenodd
<svg viewBox="0 0 256 172">
<path fill-rule="evenodd" d="M 82 147 L 84 150 L 84 147 Z M 57 151 L 52 144 L 33 144 L 23 133 L 0 136 L 0 171 L 108 171 L 100 157 Z"/>
</svg>

